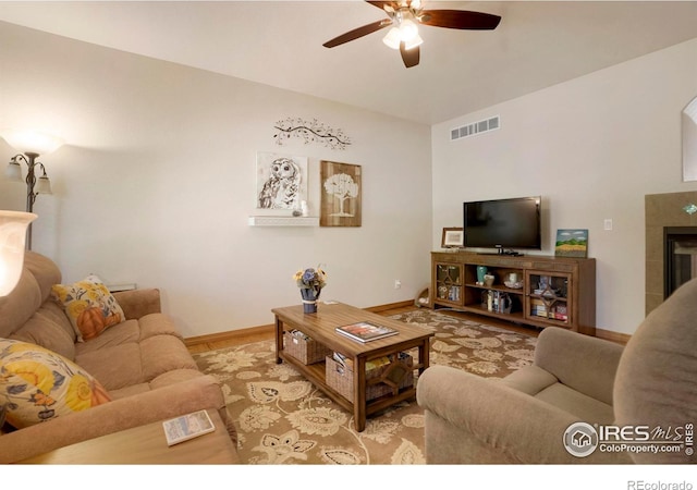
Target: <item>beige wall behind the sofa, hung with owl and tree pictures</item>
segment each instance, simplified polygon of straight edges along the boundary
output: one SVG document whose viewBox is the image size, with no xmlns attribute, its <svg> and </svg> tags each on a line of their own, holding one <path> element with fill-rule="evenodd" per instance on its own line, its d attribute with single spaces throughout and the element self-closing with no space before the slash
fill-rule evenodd
<svg viewBox="0 0 697 490">
<path fill-rule="evenodd" d="M 270 323 L 270 308 L 299 304 L 293 273 L 318 262 L 322 296 L 362 307 L 413 299 L 428 281 L 428 126 L 10 24 L 0 46 L 0 127 L 68 142 L 40 158 L 54 195 L 39 196 L 34 228 L 64 281 L 160 287 L 185 336 Z M 279 147 L 273 124 L 289 117 L 353 144 Z M 363 226 L 248 226 L 257 151 L 309 158 L 314 210 L 320 159 L 363 166 Z M 23 209 L 24 188 L 0 180 L 0 209 Z"/>
</svg>

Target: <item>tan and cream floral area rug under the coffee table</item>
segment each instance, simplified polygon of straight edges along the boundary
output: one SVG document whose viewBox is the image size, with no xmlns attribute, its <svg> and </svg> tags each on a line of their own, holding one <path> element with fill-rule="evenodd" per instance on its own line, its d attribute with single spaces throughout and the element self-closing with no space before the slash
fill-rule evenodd
<svg viewBox="0 0 697 490">
<path fill-rule="evenodd" d="M 392 317 L 435 332 L 431 365 L 502 378 L 531 363 L 537 339 L 430 309 Z M 276 364 L 273 341 L 194 356 L 223 385 L 246 464 L 425 464 L 424 411 L 403 402 L 368 418 L 333 403 L 288 364 Z M 415 381 L 416 382 L 416 381 Z M 463 394 L 466 396 L 466 394 Z"/>
</svg>

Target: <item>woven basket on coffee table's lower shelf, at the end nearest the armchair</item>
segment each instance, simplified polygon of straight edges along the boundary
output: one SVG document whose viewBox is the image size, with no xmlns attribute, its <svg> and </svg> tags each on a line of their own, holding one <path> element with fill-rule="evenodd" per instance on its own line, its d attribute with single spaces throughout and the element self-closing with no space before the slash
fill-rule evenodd
<svg viewBox="0 0 697 490">
<path fill-rule="evenodd" d="M 335 360 L 327 356 L 326 381 L 350 402 L 354 402 L 353 363 L 351 359 Z M 366 363 L 366 401 L 387 394 L 396 394 L 401 389 L 414 384 L 414 359 L 406 353 L 380 357 Z"/>
</svg>

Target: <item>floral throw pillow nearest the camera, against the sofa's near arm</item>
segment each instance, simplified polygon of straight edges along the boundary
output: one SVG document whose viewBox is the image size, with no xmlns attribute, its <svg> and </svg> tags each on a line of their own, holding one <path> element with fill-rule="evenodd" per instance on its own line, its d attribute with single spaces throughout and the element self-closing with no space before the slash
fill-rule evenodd
<svg viewBox="0 0 697 490">
<path fill-rule="evenodd" d="M 111 401 L 83 368 L 48 348 L 0 339 L 0 403 L 22 429 Z"/>
</svg>

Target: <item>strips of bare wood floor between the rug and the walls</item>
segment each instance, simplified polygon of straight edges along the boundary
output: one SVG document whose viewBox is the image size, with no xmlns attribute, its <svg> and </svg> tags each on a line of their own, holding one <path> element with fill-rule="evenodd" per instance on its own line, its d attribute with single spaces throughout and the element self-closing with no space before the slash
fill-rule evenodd
<svg viewBox="0 0 697 490">
<path fill-rule="evenodd" d="M 419 309 L 411 302 L 404 304 L 389 305 L 383 308 L 369 308 L 371 311 L 386 317 L 392 315 L 400 315 L 407 311 L 414 311 Z M 482 317 L 479 315 L 466 314 L 462 311 L 452 311 L 448 309 L 438 309 L 438 313 L 445 315 L 452 315 L 457 318 L 469 319 L 474 321 L 485 322 L 496 327 L 501 327 L 514 332 L 526 333 L 528 335 L 537 336 L 541 329 L 511 323 L 508 321 L 499 321 L 496 318 Z M 217 348 L 232 347 L 242 344 L 248 344 L 252 342 L 259 342 L 265 340 L 273 340 L 274 328 L 272 324 L 264 327 L 254 327 L 244 330 L 234 330 L 231 332 L 217 333 L 212 335 L 204 335 L 198 338 L 186 339 L 186 346 L 192 354 L 199 354 L 201 352 L 215 351 Z"/>
</svg>

